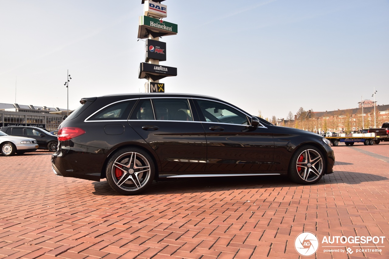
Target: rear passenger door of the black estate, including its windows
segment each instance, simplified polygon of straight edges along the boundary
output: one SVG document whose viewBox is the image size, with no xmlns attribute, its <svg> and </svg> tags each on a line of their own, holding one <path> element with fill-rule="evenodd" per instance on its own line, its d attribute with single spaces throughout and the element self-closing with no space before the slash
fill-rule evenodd
<svg viewBox="0 0 389 259">
<path fill-rule="evenodd" d="M 162 172 L 205 170 L 205 132 L 187 98 L 140 99 L 128 122 L 154 149 Z"/>
</svg>

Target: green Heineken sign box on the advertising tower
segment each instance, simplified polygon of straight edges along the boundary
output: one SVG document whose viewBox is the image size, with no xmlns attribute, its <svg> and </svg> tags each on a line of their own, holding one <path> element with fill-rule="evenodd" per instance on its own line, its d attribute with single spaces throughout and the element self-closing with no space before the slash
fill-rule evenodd
<svg viewBox="0 0 389 259">
<path fill-rule="evenodd" d="M 151 32 L 150 32 L 151 31 Z M 148 34 L 156 33 L 155 37 L 177 34 L 177 25 L 162 19 L 149 16 L 139 16 L 138 38 L 146 39 Z"/>
</svg>

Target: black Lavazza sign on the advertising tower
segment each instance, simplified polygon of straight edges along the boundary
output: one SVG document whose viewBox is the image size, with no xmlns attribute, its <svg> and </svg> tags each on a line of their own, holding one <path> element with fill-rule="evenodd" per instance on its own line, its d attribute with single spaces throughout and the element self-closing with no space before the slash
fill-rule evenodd
<svg viewBox="0 0 389 259">
<path fill-rule="evenodd" d="M 165 77 L 175 77 L 177 68 L 142 62 L 139 65 L 138 74 L 140 79 L 150 77 L 153 81 L 156 81 Z"/>
</svg>

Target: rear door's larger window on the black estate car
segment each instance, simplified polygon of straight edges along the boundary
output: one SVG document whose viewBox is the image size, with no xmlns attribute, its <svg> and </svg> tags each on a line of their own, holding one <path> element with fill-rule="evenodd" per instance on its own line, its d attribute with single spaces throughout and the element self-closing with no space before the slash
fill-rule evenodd
<svg viewBox="0 0 389 259">
<path fill-rule="evenodd" d="M 187 99 L 153 99 L 157 120 L 193 121 Z"/>
</svg>

